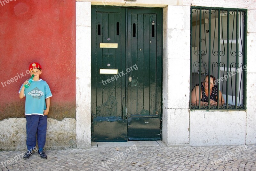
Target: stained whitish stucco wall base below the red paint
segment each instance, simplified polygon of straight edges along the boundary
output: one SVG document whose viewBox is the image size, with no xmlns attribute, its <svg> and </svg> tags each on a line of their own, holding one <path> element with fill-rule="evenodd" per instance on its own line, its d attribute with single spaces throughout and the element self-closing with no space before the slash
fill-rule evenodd
<svg viewBox="0 0 256 171">
<path fill-rule="evenodd" d="M 0 121 L 0 150 L 26 150 L 26 119 L 10 118 Z M 47 118 L 44 149 L 76 148 L 76 120 L 61 121 Z"/>
</svg>

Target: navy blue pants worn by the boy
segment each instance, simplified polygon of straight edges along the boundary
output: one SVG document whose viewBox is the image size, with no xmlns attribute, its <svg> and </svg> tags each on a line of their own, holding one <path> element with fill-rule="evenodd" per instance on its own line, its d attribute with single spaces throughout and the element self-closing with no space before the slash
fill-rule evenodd
<svg viewBox="0 0 256 171">
<path fill-rule="evenodd" d="M 26 115 L 27 148 L 31 151 L 36 147 L 36 134 L 38 148 L 44 148 L 46 140 L 47 115 Z"/>
</svg>

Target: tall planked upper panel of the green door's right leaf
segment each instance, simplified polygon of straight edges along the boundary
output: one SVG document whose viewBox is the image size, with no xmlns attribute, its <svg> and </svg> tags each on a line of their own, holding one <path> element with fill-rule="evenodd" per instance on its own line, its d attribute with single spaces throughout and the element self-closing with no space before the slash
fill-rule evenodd
<svg viewBox="0 0 256 171">
<path fill-rule="evenodd" d="M 138 70 L 131 73 L 131 95 L 128 95 L 128 106 L 131 107 L 128 112 L 131 115 L 155 115 L 156 37 L 152 37 L 151 26 L 152 21 L 156 22 L 156 14 L 131 14 L 131 21 L 131 64 L 129 66 L 128 62 L 128 68 L 136 64 Z M 134 24 L 136 35 L 133 35 Z M 153 31 L 156 35 L 155 30 Z M 136 104 L 136 108 L 132 107 Z"/>
</svg>

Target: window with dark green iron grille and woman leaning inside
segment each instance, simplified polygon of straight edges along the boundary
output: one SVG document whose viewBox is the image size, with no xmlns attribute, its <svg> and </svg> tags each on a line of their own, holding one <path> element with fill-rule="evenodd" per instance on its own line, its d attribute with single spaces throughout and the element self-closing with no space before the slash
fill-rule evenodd
<svg viewBox="0 0 256 171">
<path fill-rule="evenodd" d="M 191 110 L 246 109 L 246 18 L 246 9 L 191 7 Z"/>
</svg>

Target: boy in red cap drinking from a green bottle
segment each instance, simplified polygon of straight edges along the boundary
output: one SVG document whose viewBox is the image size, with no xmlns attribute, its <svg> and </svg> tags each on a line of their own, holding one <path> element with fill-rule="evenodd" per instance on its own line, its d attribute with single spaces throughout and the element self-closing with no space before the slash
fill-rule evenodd
<svg viewBox="0 0 256 171">
<path fill-rule="evenodd" d="M 30 64 L 29 73 L 34 74 L 33 81 L 26 89 L 24 86 L 28 84 L 28 80 L 22 84 L 20 88 L 20 98 L 26 96 L 25 115 L 27 129 L 27 148 L 28 150 L 23 159 L 28 159 L 33 154 L 32 150 L 36 148 L 36 134 L 38 143 L 38 155 L 42 159 L 47 159 L 43 148 L 46 140 L 47 114 L 50 108 L 51 90 L 48 84 L 39 78 L 42 74 L 42 66 L 37 62 Z"/>
</svg>

